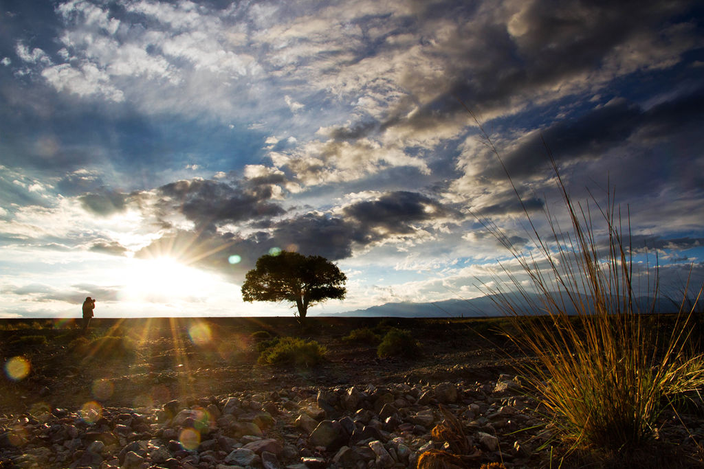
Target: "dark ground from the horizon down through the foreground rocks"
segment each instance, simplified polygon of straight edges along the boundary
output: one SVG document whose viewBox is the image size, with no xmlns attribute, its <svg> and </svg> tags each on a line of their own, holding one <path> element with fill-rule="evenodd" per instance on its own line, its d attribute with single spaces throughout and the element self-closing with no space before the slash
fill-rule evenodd
<svg viewBox="0 0 704 469">
<path fill-rule="evenodd" d="M 369 319 L 97 321 L 94 337 L 132 338 L 124 356 L 76 356 L 70 325 L 0 330 L 0 468 L 413 468 L 428 449 L 462 454 L 469 468 L 617 464 L 593 451 L 562 460 L 554 424 L 523 395 L 510 348 L 486 324 L 386 321 L 413 331 L 422 354 L 379 359 L 341 340 L 379 326 Z M 256 364 L 259 330 L 318 340 L 327 361 Z M 26 375 L 7 366 L 18 356 Z M 460 437 L 433 433 L 455 420 Z M 702 424 L 662 416 L 643 465 L 701 467 Z"/>
</svg>

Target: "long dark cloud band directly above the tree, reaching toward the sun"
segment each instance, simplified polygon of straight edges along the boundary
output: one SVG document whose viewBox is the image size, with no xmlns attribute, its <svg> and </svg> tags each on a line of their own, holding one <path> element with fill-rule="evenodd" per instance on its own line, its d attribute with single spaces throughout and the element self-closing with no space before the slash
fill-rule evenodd
<svg viewBox="0 0 704 469">
<path fill-rule="evenodd" d="M 175 189 L 174 193 L 184 191 Z M 455 212 L 425 195 L 386 193 L 379 200 L 360 202 L 344 209 L 344 217 L 309 212 L 282 220 L 262 219 L 257 231 L 246 238 L 234 233 L 176 231 L 139 250 L 140 258 L 169 255 L 185 264 L 224 272 L 241 281 L 256 260 L 271 248 L 320 255 L 331 260 L 351 257 L 355 246 L 377 243 L 392 236 L 413 236 L 414 224 L 454 216 Z M 231 256 L 237 255 L 236 263 Z"/>
</svg>

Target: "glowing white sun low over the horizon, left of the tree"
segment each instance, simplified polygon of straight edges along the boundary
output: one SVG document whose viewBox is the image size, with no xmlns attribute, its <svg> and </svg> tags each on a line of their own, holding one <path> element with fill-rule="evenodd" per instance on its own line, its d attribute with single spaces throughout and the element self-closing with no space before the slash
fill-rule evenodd
<svg viewBox="0 0 704 469">
<path fill-rule="evenodd" d="M 206 297 L 213 285 L 209 274 L 172 257 L 132 259 L 125 275 L 128 297 L 154 303 Z"/>
</svg>

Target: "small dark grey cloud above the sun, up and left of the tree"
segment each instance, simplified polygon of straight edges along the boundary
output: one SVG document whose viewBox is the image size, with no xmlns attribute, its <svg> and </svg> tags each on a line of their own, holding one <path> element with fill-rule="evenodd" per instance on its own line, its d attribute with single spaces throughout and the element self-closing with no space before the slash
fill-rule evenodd
<svg viewBox="0 0 704 469">
<path fill-rule="evenodd" d="M 262 182 L 267 184 L 261 184 Z M 214 230 L 218 224 L 236 223 L 284 214 L 270 203 L 270 179 L 253 181 L 248 187 L 233 186 L 210 179 L 177 181 L 158 188 L 163 207 L 175 208 L 200 228 Z"/>
</svg>

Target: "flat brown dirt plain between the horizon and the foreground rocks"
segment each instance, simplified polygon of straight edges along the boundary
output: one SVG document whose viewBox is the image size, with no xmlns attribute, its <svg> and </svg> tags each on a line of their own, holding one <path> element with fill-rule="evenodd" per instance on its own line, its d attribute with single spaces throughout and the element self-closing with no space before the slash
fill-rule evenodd
<svg viewBox="0 0 704 469">
<path fill-rule="evenodd" d="M 329 317 L 308 318 L 303 326 L 294 317 L 94 319 L 78 347 L 80 330 L 71 321 L 6 320 L 0 322 L 5 366 L 0 413 L 80 409 L 94 401 L 158 406 L 172 399 L 276 387 L 496 379 L 512 368 L 510 349 L 491 333 L 495 325 L 495 320 Z M 380 359 L 376 347 L 342 340 L 363 327 L 410 330 L 421 354 Z M 259 331 L 316 340 L 327 348 L 326 360 L 300 369 L 260 365 L 256 337 L 265 334 Z M 126 338 L 131 348 L 95 341 L 104 336 Z M 89 341 L 92 347 L 85 347 Z M 10 365 L 17 357 L 25 364 L 20 372 Z"/>
</svg>

